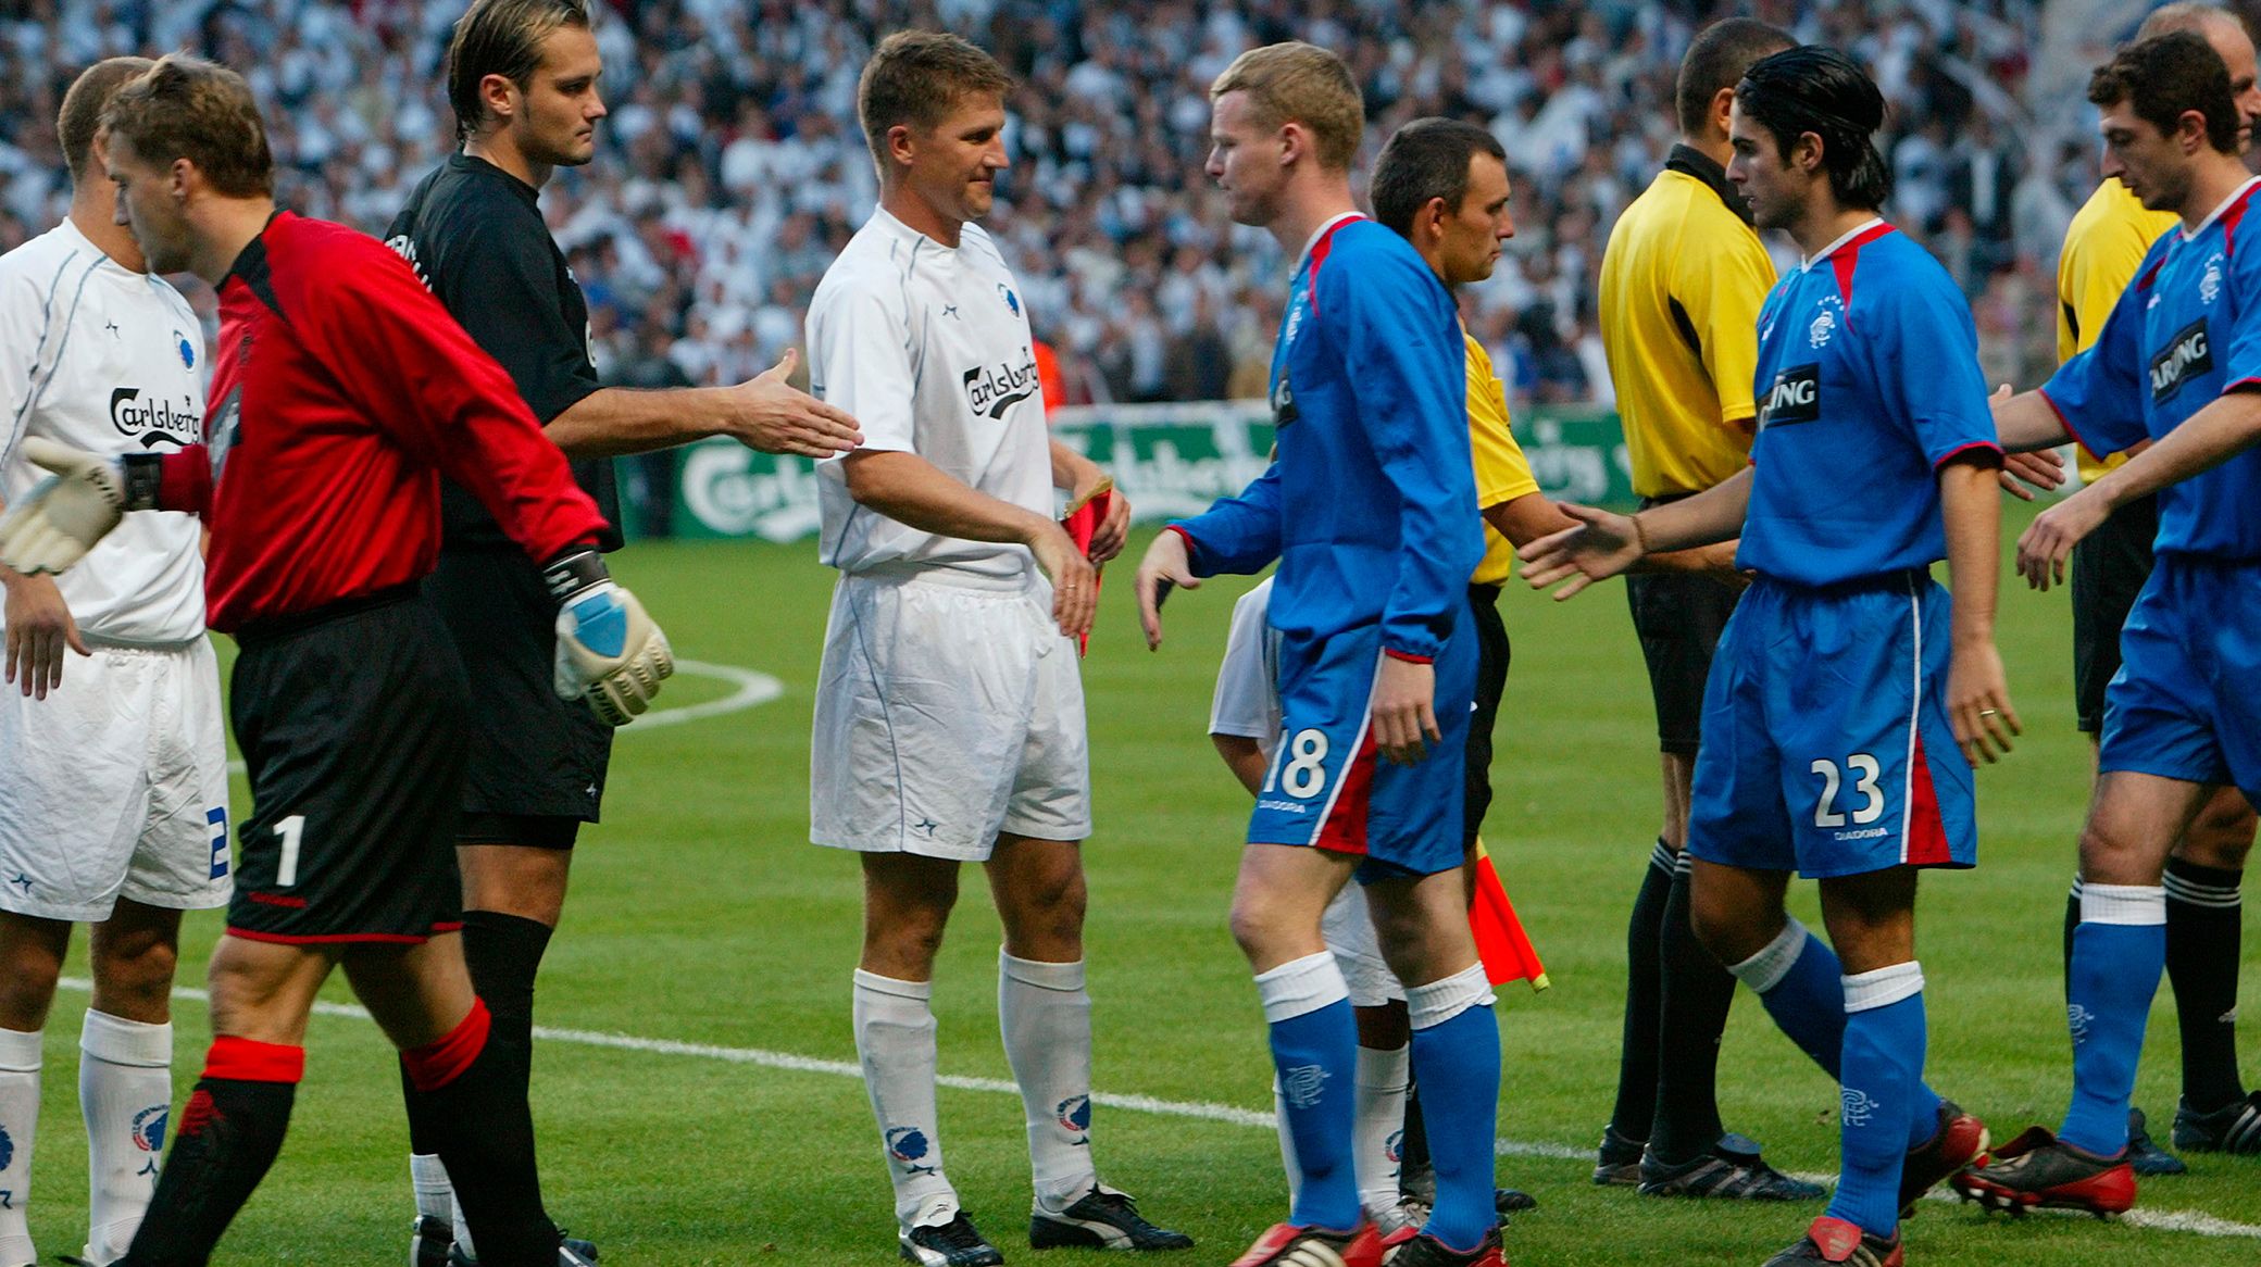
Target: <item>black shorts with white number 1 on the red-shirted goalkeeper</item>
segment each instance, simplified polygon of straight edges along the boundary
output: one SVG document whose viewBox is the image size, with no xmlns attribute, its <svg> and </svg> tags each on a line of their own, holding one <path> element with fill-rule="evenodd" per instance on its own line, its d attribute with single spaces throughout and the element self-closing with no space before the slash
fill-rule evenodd
<svg viewBox="0 0 2261 1267">
<path fill-rule="evenodd" d="M 464 666 L 416 587 L 237 632 L 228 687 L 251 775 L 228 933 L 423 942 L 461 928 L 454 822 Z"/>
</svg>

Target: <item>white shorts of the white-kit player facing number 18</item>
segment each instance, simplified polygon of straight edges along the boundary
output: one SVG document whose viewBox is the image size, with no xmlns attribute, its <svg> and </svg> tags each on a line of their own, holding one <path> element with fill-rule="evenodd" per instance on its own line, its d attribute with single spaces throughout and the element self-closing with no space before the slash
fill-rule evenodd
<svg viewBox="0 0 2261 1267">
<path fill-rule="evenodd" d="M 816 678 L 809 840 L 979 863 L 999 831 L 1092 833 L 1083 675 L 1051 587 L 841 576 Z"/>
</svg>

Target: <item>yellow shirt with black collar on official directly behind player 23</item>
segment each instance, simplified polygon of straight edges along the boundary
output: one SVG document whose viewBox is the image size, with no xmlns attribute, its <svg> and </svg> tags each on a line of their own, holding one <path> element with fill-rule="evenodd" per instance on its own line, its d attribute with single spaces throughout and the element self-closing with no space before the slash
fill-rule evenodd
<svg viewBox="0 0 2261 1267">
<path fill-rule="evenodd" d="M 1741 206 L 1718 163 L 1675 145 L 1601 255 L 1601 346 L 1641 497 L 1703 492 L 1750 463 L 1775 262 Z"/>
</svg>

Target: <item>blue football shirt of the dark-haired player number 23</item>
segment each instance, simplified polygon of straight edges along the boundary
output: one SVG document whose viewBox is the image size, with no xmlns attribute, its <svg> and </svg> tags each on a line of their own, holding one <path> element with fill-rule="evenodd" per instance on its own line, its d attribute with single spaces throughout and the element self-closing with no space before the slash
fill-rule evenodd
<svg viewBox="0 0 2261 1267">
<path fill-rule="evenodd" d="M 1994 449 L 1978 330 L 1947 269 L 1883 221 L 1759 309 L 1759 438 L 1736 567 L 1840 585 L 1947 558 L 1938 468 Z"/>
</svg>

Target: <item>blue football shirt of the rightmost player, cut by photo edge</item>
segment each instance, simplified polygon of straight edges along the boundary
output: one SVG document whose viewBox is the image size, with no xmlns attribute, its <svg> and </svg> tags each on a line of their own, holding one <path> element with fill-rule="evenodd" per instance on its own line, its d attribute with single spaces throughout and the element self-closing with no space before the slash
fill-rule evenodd
<svg viewBox="0 0 2261 1267">
<path fill-rule="evenodd" d="M 2042 395 L 2096 456 L 2157 440 L 2225 391 L 2261 386 L 2261 248 L 2247 181 L 2195 233 L 2152 242 L 2096 343 L 2058 366 Z M 2245 248 L 2241 255 L 2238 248 Z M 2261 558 L 2261 449 L 2159 490 L 2162 553 Z"/>
</svg>

